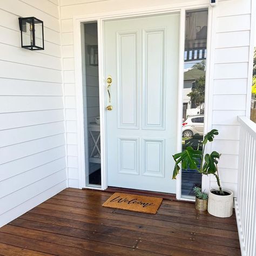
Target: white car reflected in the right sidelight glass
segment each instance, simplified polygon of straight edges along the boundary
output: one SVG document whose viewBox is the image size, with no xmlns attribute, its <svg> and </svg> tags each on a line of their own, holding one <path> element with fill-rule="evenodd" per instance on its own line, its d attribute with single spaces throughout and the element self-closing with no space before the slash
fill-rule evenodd
<svg viewBox="0 0 256 256">
<path fill-rule="evenodd" d="M 188 116 L 182 124 L 182 137 L 190 138 L 197 133 L 204 135 L 204 115 Z"/>
</svg>

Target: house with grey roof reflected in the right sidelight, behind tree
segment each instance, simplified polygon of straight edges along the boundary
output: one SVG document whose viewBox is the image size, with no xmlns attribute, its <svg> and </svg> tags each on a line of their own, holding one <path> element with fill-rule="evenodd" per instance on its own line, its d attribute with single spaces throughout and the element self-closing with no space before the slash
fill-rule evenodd
<svg viewBox="0 0 256 256">
<path fill-rule="evenodd" d="M 187 116 L 193 116 L 195 114 L 200 114 L 200 110 L 203 109 L 197 107 L 191 101 L 190 96 L 187 96 L 188 93 L 192 91 L 194 83 L 196 83 L 196 79 L 205 76 L 205 71 L 200 69 L 191 69 L 184 72 L 184 87 L 183 87 L 183 118 L 185 119 Z"/>
</svg>

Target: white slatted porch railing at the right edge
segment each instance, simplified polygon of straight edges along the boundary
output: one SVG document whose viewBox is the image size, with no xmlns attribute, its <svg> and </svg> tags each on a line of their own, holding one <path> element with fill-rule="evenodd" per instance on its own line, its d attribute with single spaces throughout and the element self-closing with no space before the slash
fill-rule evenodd
<svg viewBox="0 0 256 256">
<path fill-rule="evenodd" d="M 238 117 L 240 148 L 235 213 L 242 256 L 256 255 L 256 124 Z"/>
</svg>

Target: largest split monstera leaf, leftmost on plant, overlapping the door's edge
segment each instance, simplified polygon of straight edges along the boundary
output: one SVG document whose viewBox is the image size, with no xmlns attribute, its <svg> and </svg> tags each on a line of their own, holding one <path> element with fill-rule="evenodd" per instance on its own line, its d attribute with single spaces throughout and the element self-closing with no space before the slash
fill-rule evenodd
<svg viewBox="0 0 256 256">
<path fill-rule="evenodd" d="M 176 179 L 176 176 L 179 173 L 180 167 L 179 167 L 179 163 L 181 163 L 182 169 L 192 169 L 192 170 L 198 170 L 198 165 L 199 165 L 199 159 L 201 159 L 202 157 L 202 151 L 201 150 L 194 150 L 192 147 L 187 147 L 185 151 L 178 153 L 178 154 L 174 154 L 174 156 L 172 156 L 174 161 L 175 161 L 175 165 L 174 165 L 174 170 L 173 170 L 173 174 L 172 174 L 172 178 Z"/>
</svg>

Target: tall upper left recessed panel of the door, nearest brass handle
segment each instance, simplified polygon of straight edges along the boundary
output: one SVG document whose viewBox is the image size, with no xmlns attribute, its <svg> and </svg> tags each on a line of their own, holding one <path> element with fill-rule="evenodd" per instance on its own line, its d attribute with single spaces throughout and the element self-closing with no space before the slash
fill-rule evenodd
<svg viewBox="0 0 256 256">
<path fill-rule="evenodd" d="M 119 128 L 138 129 L 138 31 L 117 32 Z"/>
</svg>

